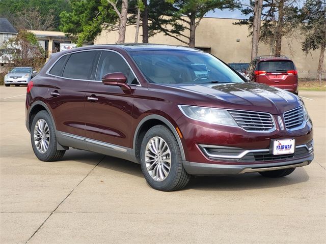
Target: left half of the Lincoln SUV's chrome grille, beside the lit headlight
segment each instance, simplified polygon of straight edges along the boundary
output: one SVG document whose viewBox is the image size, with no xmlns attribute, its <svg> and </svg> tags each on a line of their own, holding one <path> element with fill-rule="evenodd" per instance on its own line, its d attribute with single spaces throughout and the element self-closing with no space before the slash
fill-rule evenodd
<svg viewBox="0 0 326 244">
<path fill-rule="evenodd" d="M 247 131 L 269 131 L 275 128 L 273 117 L 269 113 L 228 110 L 239 127 Z"/>
</svg>

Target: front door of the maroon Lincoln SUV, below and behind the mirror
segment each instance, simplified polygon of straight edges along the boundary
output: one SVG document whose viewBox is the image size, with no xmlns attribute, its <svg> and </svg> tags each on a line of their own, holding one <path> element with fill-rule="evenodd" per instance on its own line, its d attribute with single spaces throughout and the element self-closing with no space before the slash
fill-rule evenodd
<svg viewBox="0 0 326 244">
<path fill-rule="evenodd" d="M 128 77 L 131 90 L 122 90 L 119 86 L 104 85 L 102 77 L 108 73 L 122 72 Z M 87 87 L 85 103 L 86 137 L 92 144 L 110 143 L 123 147 L 131 146 L 131 111 L 133 90 L 137 79 L 126 60 L 115 51 L 102 51 L 95 81 Z M 95 141 L 94 141 L 95 140 Z M 95 150 L 92 148 L 92 150 Z"/>
</svg>

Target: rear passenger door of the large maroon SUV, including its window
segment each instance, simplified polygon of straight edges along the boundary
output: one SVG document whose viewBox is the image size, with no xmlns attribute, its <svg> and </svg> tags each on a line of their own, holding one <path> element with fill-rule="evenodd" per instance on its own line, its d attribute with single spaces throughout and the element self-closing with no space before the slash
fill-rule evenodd
<svg viewBox="0 0 326 244">
<path fill-rule="evenodd" d="M 58 131 L 85 137 L 85 94 L 98 51 L 65 55 L 51 68 L 48 90 L 50 106 Z"/>
</svg>

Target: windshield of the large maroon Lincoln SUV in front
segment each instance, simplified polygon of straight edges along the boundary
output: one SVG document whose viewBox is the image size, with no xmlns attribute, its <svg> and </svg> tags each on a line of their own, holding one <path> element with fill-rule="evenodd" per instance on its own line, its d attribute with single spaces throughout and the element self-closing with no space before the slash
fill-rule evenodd
<svg viewBox="0 0 326 244">
<path fill-rule="evenodd" d="M 150 83 L 242 83 L 218 58 L 196 51 L 137 51 L 131 57 Z"/>
</svg>

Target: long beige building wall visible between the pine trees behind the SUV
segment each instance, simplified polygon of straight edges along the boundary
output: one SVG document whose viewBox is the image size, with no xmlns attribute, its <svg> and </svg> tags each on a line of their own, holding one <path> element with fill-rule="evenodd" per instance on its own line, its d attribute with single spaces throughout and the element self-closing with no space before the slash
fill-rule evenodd
<svg viewBox="0 0 326 244">
<path fill-rule="evenodd" d="M 250 63 L 251 37 L 248 37 L 248 27 L 234 25 L 237 19 L 203 18 L 196 29 L 196 47 L 210 50 L 210 53 L 221 58 L 226 63 Z M 142 41 L 140 29 L 139 42 Z M 126 43 L 133 43 L 135 38 L 135 26 L 127 26 Z M 115 43 L 118 40 L 118 32 L 103 31 L 95 40 L 95 44 Z M 306 55 L 301 50 L 300 38 L 282 40 L 282 55 L 291 58 L 300 72 L 301 77 L 307 76 L 308 72 L 316 72 L 320 50 L 312 51 Z M 157 34 L 149 38 L 150 43 L 169 45 L 185 45 L 178 40 Z M 268 55 L 269 47 L 259 43 L 259 55 Z M 326 56 L 326 55 L 325 55 Z M 326 72 L 326 60 L 323 71 Z M 314 74 L 311 74 L 315 76 Z"/>
</svg>

